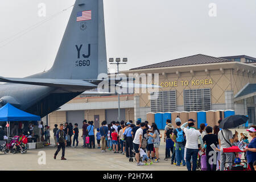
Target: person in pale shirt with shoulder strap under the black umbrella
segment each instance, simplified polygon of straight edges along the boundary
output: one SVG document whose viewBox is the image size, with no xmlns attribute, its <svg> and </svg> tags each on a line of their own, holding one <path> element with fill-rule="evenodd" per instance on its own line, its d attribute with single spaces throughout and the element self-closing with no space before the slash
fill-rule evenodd
<svg viewBox="0 0 256 182">
<path fill-rule="evenodd" d="M 236 131 L 236 135 L 238 135 Z M 218 132 L 218 143 L 220 145 L 220 155 L 221 155 L 221 167 L 220 170 L 224 171 L 225 162 L 227 162 L 227 166 L 232 166 L 233 162 L 233 153 L 232 152 L 223 152 L 223 148 L 232 147 L 232 143 L 234 142 L 232 131 L 228 129 L 222 129 Z"/>
</svg>

